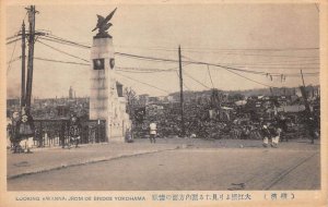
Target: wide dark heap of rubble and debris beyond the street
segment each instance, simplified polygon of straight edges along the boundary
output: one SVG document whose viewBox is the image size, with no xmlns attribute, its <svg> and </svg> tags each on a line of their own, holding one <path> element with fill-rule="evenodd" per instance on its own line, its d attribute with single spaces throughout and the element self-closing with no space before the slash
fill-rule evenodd
<svg viewBox="0 0 328 207">
<path fill-rule="evenodd" d="M 225 102 L 213 107 L 209 102 L 187 102 L 184 106 L 185 136 L 197 138 L 245 138 L 261 139 L 262 124 L 279 124 L 285 119 L 284 136 L 306 137 L 304 111 L 282 111 L 278 98 L 249 98 L 244 105 Z M 247 104 L 246 104 L 247 102 Z M 317 101 L 318 102 L 318 101 Z M 298 107 L 300 108 L 300 107 Z M 319 115 L 319 111 L 314 111 Z M 134 137 L 148 137 L 150 122 L 157 123 L 160 137 L 181 135 L 179 102 L 152 104 L 144 107 L 142 120 L 133 120 Z"/>
</svg>

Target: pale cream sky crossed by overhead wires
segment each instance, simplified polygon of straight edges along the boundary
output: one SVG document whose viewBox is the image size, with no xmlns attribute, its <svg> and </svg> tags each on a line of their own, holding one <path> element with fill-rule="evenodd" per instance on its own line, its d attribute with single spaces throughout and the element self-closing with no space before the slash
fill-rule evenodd
<svg viewBox="0 0 328 207">
<path fill-rule="evenodd" d="M 27 7 L 27 5 L 26 5 Z M 7 8 L 7 36 L 16 34 L 25 17 L 25 5 Z M 178 60 L 201 61 L 265 73 L 293 74 L 271 81 L 270 76 L 232 73 L 218 66 L 184 64 L 184 89 L 223 90 L 294 87 L 302 84 L 304 73 L 319 72 L 319 12 L 314 3 L 303 4 L 36 4 L 36 29 L 75 42 L 91 46 L 96 14 L 106 16 L 117 8 L 112 19 L 116 52 Z M 90 49 L 38 39 L 81 59 L 90 60 Z M 26 51 L 27 53 L 27 51 Z M 9 62 L 21 56 L 21 42 L 7 46 Z M 12 57 L 12 58 L 11 58 Z M 60 53 L 40 42 L 35 44 L 35 57 L 86 63 Z M 120 56 L 117 68 L 178 69 L 177 62 L 154 62 Z M 67 97 L 72 86 L 78 97 L 90 94 L 87 65 L 34 61 L 33 96 Z M 119 69 L 117 69 L 119 71 Z M 138 71 L 137 71 L 138 72 Z M 117 72 L 117 81 L 137 94 L 165 96 L 179 90 L 177 72 Z M 296 75 L 297 74 L 297 75 Z M 242 76 L 241 76 L 242 75 Z M 128 77 L 129 78 L 128 78 Z M 137 80 L 137 81 L 134 81 Z M 211 81 L 212 80 L 212 81 Z M 7 69 L 8 97 L 19 97 L 21 61 Z M 141 83 L 142 82 L 142 83 Z M 318 84 L 319 76 L 305 75 L 306 84 Z M 260 84 L 259 84 L 260 83 Z M 261 85 L 262 84 L 262 85 Z M 150 86 L 151 85 L 151 86 Z M 155 87 L 152 87 L 155 86 Z M 159 89 L 160 88 L 160 89 Z"/>
</svg>

